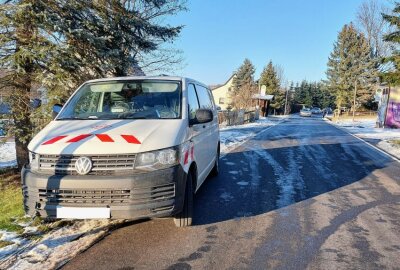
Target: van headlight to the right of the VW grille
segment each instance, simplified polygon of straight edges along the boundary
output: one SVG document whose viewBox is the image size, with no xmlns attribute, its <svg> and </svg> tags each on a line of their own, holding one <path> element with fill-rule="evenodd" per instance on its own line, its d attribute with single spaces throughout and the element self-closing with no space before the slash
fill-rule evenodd
<svg viewBox="0 0 400 270">
<path fill-rule="evenodd" d="M 179 148 L 172 147 L 138 154 L 135 161 L 135 169 L 154 171 L 169 168 L 178 163 Z"/>
</svg>

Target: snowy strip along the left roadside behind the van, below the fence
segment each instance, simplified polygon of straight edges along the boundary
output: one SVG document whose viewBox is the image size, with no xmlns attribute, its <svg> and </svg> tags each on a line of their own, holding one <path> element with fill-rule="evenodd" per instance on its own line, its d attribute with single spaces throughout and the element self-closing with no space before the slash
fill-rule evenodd
<svg viewBox="0 0 400 270">
<path fill-rule="evenodd" d="M 278 124 L 285 118 L 286 117 L 282 116 L 273 116 L 268 118 L 262 117 L 254 123 L 220 128 L 219 136 L 221 141 L 221 155 L 230 152 L 240 144 L 255 136 L 258 132 Z"/>
</svg>

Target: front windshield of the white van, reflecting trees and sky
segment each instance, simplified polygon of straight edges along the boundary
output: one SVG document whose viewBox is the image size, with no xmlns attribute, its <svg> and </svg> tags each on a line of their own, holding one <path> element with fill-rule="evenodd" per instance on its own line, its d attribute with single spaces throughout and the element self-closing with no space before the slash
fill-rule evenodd
<svg viewBox="0 0 400 270">
<path fill-rule="evenodd" d="M 113 81 L 82 86 L 57 120 L 178 119 L 181 87 L 175 81 Z"/>
</svg>

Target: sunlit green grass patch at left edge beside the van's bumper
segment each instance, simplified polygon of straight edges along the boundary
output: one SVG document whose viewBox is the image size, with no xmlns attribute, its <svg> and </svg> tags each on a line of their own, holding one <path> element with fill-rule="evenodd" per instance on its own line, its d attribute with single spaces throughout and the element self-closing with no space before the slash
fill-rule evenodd
<svg viewBox="0 0 400 270">
<path fill-rule="evenodd" d="M 0 230 L 22 233 L 15 220 L 24 216 L 21 187 L 8 185 L 0 190 Z"/>
</svg>

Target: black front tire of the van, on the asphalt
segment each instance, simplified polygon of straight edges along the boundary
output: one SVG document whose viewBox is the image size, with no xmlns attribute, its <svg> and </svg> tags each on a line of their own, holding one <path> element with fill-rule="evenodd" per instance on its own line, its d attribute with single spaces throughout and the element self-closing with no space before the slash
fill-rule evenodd
<svg viewBox="0 0 400 270">
<path fill-rule="evenodd" d="M 182 212 L 174 217 L 176 227 L 187 227 L 192 225 L 193 219 L 193 181 L 192 173 L 189 171 L 186 179 L 185 199 Z"/>
</svg>

